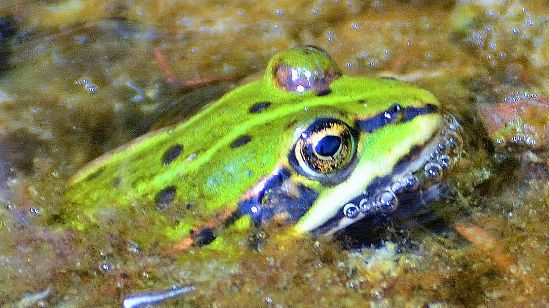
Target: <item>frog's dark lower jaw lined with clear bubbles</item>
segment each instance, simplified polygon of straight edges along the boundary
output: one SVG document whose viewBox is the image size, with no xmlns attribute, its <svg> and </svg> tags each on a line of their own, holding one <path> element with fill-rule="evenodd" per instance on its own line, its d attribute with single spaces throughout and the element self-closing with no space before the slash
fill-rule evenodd
<svg viewBox="0 0 549 308">
<path fill-rule="evenodd" d="M 424 208 L 443 193 L 441 180 L 461 158 L 462 136 L 455 117 L 445 115 L 444 124 L 430 141 L 412 149 L 391 174 L 374 179 L 363 193 L 311 232 L 332 235 L 358 221 L 378 225 L 387 216 L 398 219 Z"/>
</svg>

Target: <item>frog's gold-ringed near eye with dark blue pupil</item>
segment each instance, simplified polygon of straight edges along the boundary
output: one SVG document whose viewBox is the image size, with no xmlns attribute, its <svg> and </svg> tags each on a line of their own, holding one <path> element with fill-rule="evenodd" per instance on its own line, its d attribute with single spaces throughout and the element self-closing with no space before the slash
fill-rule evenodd
<svg viewBox="0 0 549 308">
<path fill-rule="evenodd" d="M 349 166 L 355 152 L 352 129 L 338 119 L 321 118 L 301 133 L 290 158 L 294 158 L 298 173 L 324 179 Z"/>
</svg>

